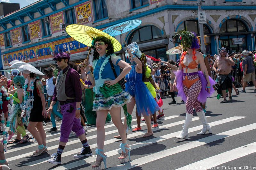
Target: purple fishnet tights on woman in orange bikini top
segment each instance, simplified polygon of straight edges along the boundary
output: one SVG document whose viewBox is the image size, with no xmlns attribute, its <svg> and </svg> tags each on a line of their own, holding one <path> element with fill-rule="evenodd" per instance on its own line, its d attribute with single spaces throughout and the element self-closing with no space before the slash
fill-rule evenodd
<svg viewBox="0 0 256 170">
<path fill-rule="evenodd" d="M 199 76 L 188 76 L 188 80 L 194 80 L 196 78 L 199 78 Z M 183 76 L 183 80 L 185 80 L 185 76 Z M 203 110 L 202 107 L 200 106 L 199 101 L 197 100 L 197 97 L 201 92 L 201 89 L 202 84 L 200 79 L 197 80 L 190 88 L 187 88 L 185 85 L 183 85 L 183 90 L 187 96 L 186 109 L 188 114 L 193 115 L 193 108 L 195 108 L 196 112 L 201 112 Z"/>
</svg>

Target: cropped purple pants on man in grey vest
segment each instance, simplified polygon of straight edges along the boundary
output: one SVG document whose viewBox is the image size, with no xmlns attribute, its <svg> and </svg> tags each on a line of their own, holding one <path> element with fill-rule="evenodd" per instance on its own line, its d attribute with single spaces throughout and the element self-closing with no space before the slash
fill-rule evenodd
<svg viewBox="0 0 256 170">
<path fill-rule="evenodd" d="M 76 118 L 76 102 L 61 105 L 61 113 L 63 118 L 60 125 L 60 142 L 68 142 L 71 130 L 76 136 L 84 134 L 80 119 Z"/>
</svg>

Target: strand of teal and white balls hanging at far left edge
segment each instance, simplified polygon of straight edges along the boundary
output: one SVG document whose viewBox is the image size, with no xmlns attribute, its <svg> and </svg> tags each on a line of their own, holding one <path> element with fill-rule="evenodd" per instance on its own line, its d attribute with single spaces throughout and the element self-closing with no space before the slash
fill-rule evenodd
<svg viewBox="0 0 256 170">
<path fill-rule="evenodd" d="M 2 93 L 2 91 L 4 93 Z M 7 152 L 7 138 L 8 138 L 8 130 L 10 127 L 10 110 L 11 110 L 11 105 L 8 104 L 8 116 L 7 116 L 7 122 L 6 122 L 6 126 L 5 126 L 5 118 L 4 118 L 4 111 L 3 111 L 3 96 L 7 96 L 7 90 L 4 86 L 2 86 L 0 88 L 0 107 L 2 110 L 2 114 L 1 114 L 1 130 L 3 131 L 3 143 L 4 143 L 4 152 Z M 6 100 L 10 100 L 10 97 L 6 97 Z"/>
</svg>

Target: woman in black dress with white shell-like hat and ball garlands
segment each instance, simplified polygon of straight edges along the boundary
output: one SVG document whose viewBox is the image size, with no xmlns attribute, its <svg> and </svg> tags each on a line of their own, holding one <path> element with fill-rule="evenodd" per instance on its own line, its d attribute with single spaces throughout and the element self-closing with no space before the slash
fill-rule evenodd
<svg viewBox="0 0 256 170">
<path fill-rule="evenodd" d="M 48 152 L 45 142 L 46 135 L 43 127 L 44 118 L 47 118 L 44 88 L 42 82 L 38 78 L 38 76 L 42 76 L 43 73 L 30 64 L 20 66 L 19 70 L 23 73 L 23 76 L 26 79 L 24 85 L 25 107 L 22 112 L 26 111 L 25 114 L 28 114 L 28 131 L 38 143 L 38 149 L 33 154 L 34 156 L 39 156 L 42 153 Z"/>
</svg>

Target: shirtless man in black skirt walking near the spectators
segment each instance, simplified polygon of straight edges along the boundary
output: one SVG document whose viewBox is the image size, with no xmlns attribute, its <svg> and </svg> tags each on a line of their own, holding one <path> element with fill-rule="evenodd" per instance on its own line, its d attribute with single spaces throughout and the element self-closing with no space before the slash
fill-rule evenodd
<svg viewBox="0 0 256 170">
<path fill-rule="evenodd" d="M 218 95 L 222 94 L 224 100 L 221 103 L 226 103 L 226 90 L 229 93 L 229 100 L 232 100 L 232 76 L 231 76 L 231 66 L 234 66 L 235 62 L 231 57 L 228 57 L 225 48 L 221 48 L 219 57 L 216 59 L 212 69 L 218 73 L 219 88 L 217 90 Z M 218 70 L 216 69 L 218 68 Z M 217 96 L 218 98 L 218 96 Z"/>
</svg>

